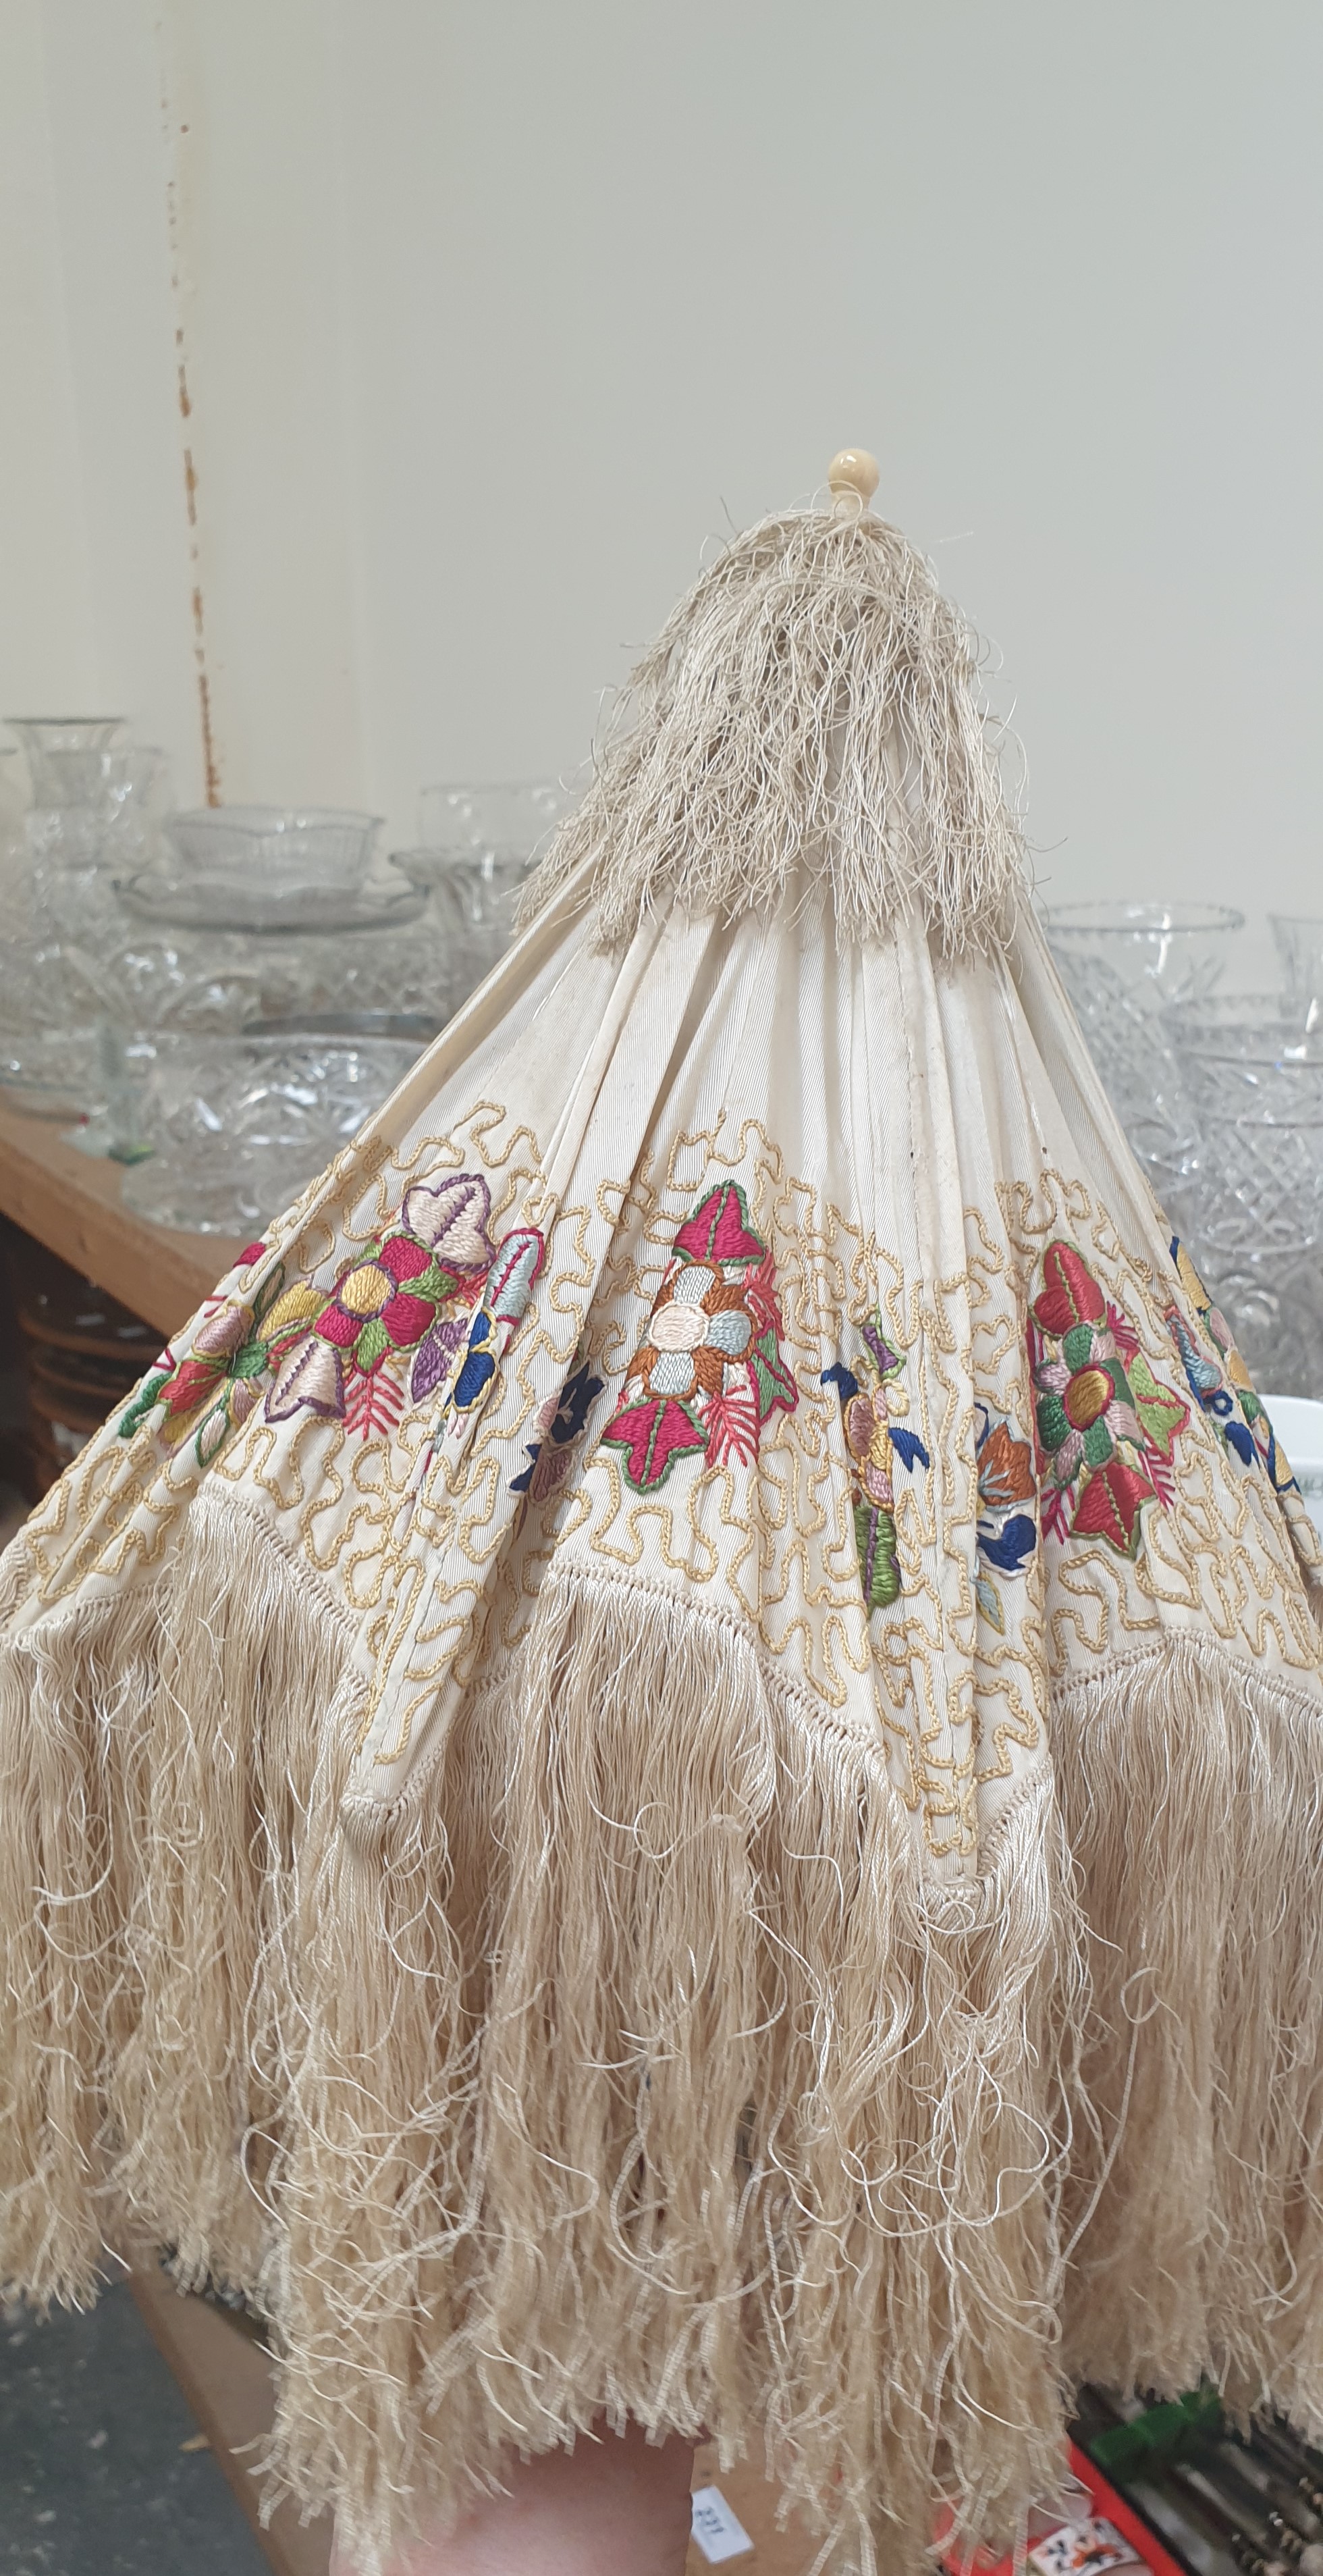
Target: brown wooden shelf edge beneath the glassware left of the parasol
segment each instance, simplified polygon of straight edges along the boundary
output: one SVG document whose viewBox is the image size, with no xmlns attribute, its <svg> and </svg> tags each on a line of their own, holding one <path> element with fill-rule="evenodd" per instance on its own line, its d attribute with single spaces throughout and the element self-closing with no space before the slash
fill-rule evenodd
<svg viewBox="0 0 1323 2576">
<path fill-rule="evenodd" d="M 0 1097 L 0 1211 L 170 1337 L 242 1244 L 149 1226 L 121 1206 L 118 1188 L 116 1162 L 80 1154 L 57 1118 L 23 1118 Z"/>
</svg>

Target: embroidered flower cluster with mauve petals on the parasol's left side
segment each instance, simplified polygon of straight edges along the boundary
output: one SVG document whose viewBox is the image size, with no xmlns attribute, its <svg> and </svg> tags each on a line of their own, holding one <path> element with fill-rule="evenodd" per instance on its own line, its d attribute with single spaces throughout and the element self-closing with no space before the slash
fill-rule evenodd
<svg viewBox="0 0 1323 2576">
<path fill-rule="evenodd" d="M 517 1226 L 497 1247 L 489 1216 L 476 1172 L 414 1182 L 399 1224 L 345 1262 L 329 1293 L 293 1288 L 281 1303 L 304 1301 L 301 1332 L 268 1391 L 268 1419 L 306 1409 L 353 1432 L 391 1430 L 404 1391 L 422 1404 L 450 1378 L 450 1401 L 471 1409 L 497 1373 L 497 1327 L 517 1324 L 543 1262 L 541 1234 Z"/>
</svg>

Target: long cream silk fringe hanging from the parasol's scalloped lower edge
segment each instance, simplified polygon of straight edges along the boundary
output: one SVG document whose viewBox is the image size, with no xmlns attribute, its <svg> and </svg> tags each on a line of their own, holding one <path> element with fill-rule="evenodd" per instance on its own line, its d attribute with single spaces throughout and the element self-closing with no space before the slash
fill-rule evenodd
<svg viewBox="0 0 1323 2576">
<path fill-rule="evenodd" d="M 746 1631 L 561 1571 L 342 1826 L 350 1646 L 203 1492 L 3 1649 L 0 2277 L 255 2295 L 273 2494 L 365 2568 L 600 2416 L 762 2452 L 867 2576 L 942 2499 L 1012 2532 L 1076 2375 L 1323 2429 L 1318 1703 L 1202 1641 L 1058 1690 L 939 1886 Z"/>
</svg>

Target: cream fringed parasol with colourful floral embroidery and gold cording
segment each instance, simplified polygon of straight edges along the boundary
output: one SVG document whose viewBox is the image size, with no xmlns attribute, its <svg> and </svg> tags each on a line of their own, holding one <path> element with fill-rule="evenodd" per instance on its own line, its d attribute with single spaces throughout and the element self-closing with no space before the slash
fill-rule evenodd
<svg viewBox="0 0 1323 2576">
<path fill-rule="evenodd" d="M 1323 2432 L 1318 1543 L 903 538 L 739 538 L 533 920 L 10 1548 L 0 2280 L 365 2566 L 602 2414 L 821 2566 Z"/>
</svg>

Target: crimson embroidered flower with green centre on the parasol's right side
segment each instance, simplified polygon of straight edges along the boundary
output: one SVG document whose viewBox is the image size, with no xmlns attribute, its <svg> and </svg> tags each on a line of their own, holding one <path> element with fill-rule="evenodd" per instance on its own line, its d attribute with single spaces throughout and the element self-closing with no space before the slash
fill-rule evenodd
<svg viewBox="0 0 1323 2576">
<path fill-rule="evenodd" d="M 1045 1535 L 1104 1538 L 1138 1556 L 1143 1507 L 1171 1502 L 1171 1450 L 1189 1404 L 1158 1386 L 1135 1327 L 1066 1242 L 1042 1255 L 1030 1373 Z"/>
</svg>

